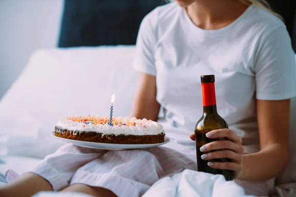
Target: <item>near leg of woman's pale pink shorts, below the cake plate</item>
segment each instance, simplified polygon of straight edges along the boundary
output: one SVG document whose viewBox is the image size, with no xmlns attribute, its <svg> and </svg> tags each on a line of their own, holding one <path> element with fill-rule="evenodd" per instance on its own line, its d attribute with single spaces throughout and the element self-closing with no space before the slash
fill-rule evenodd
<svg viewBox="0 0 296 197">
<path fill-rule="evenodd" d="M 165 147 L 109 151 L 77 169 L 70 185 L 84 184 L 100 192 L 105 188 L 117 196 L 139 197 L 161 177 L 196 168 L 195 160 Z"/>
</svg>

